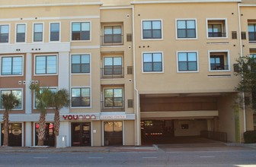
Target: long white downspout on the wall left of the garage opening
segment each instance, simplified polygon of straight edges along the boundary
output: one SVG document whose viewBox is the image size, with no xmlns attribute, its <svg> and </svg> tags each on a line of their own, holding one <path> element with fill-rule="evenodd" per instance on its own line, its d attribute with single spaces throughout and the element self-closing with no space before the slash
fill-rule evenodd
<svg viewBox="0 0 256 167">
<path fill-rule="evenodd" d="M 135 60 L 136 60 L 136 56 L 135 56 L 135 34 L 134 34 L 134 30 L 135 30 L 135 27 L 134 27 L 134 5 L 132 5 L 133 7 L 133 87 L 134 87 L 134 90 L 136 91 L 136 115 L 137 115 L 137 146 L 139 146 L 139 129 L 140 129 L 140 117 L 139 117 L 139 91 L 137 90 L 136 88 L 136 63 L 135 63 Z"/>
</svg>

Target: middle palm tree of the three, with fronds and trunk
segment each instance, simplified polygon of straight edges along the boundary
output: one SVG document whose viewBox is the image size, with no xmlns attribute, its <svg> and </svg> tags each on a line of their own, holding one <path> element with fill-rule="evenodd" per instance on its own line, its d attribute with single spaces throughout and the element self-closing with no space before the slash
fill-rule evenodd
<svg viewBox="0 0 256 167">
<path fill-rule="evenodd" d="M 36 108 L 40 111 L 37 146 L 43 146 L 46 135 L 46 109 L 50 107 L 52 93 L 48 87 L 40 88 L 34 83 L 30 84 L 30 90 L 35 93 Z"/>
</svg>

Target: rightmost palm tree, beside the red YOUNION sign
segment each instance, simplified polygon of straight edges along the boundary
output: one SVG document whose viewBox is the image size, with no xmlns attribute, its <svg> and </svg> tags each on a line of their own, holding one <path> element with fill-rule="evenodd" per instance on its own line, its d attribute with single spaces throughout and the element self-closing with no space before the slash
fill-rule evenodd
<svg viewBox="0 0 256 167">
<path fill-rule="evenodd" d="M 54 115 L 54 134 L 55 134 L 55 146 L 56 137 L 59 135 L 59 110 L 63 107 L 69 106 L 69 93 L 68 90 L 62 89 L 57 92 L 52 92 L 51 107 L 55 110 Z"/>
</svg>

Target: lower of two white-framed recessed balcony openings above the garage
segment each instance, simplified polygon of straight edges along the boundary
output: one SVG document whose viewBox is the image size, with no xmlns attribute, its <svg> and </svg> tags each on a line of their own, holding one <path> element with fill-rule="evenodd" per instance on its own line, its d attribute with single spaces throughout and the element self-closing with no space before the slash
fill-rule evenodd
<svg viewBox="0 0 256 167">
<path fill-rule="evenodd" d="M 229 53 L 210 52 L 210 71 L 228 71 Z"/>
</svg>

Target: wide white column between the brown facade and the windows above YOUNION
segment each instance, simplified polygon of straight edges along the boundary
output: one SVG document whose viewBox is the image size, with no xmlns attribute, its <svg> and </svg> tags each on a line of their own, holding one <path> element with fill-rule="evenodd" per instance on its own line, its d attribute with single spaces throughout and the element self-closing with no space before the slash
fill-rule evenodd
<svg viewBox="0 0 256 167">
<path fill-rule="evenodd" d="M 69 52 L 59 52 L 59 70 L 58 77 L 59 89 L 66 89 L 69 91 Z M 60 109 L 60 113 L 69 113 L 69 109 L 63 108 Z"/>
</svg>

